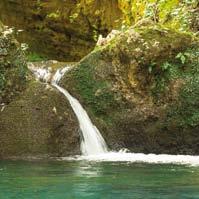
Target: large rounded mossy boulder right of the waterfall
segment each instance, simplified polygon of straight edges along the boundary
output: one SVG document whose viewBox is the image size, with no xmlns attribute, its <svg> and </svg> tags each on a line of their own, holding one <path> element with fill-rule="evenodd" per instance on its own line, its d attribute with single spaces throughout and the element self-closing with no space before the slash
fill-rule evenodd
<svg viewBox="0 0 199 199">
<path fill-rule="evenodd" d="M 62 79 L 111 149 L 199 154 L 199 43 L 152 24 L 130 28 Z"/>
</svg>

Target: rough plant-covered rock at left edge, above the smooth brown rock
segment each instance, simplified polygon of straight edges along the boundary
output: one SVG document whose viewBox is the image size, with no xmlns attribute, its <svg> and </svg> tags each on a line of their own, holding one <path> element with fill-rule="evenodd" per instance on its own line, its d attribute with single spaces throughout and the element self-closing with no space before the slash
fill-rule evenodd
<svg viewBox="0 0 199 199">
<path fill-rule="evenodd" d="M 14 38 L 14 30 L 0 22 L 0 104 L 8 104 L 26 87 L 24 48 Z"/>
</svg>

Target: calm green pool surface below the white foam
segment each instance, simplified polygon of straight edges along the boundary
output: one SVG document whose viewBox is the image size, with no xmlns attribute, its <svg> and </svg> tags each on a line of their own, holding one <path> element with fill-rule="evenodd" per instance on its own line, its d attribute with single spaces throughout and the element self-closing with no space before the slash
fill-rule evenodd
<svg viewBox="0 0 199 199">
<path fill-rule="evenodd" d="M 1 199 L 199 198 L 199 167 L 0 161 Z"/>
</svg>

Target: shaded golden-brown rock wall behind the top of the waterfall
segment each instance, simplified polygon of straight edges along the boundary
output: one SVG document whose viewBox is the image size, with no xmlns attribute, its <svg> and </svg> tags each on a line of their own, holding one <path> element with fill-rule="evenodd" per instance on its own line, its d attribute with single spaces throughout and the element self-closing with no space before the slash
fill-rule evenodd
<svg viewBox="0 0 199 199">
<path fill-rule="evenodd" d="M 0 19 L 24 29 L 18 40 L 32 51 L 53 59 L 76 61 L 90 52 L 97 34 L 119 24 L 116 0 L 1 0 Z M 117 20 L 117 21 L 116 21 Z"/>
</svg>

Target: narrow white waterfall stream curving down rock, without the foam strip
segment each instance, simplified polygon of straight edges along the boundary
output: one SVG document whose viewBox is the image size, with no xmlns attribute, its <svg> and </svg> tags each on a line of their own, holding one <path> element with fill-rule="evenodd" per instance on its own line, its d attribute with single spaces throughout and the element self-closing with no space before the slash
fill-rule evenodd
<svg viewBox="0 0 199 199">
<path fill-rule="evenodd" d="M 61 93 L 65 95 L 68 101 L 71 104 L 71 107 L 79 121 L 80 130 L 82 132 L 82 140 L 81 140 L 81 151 L 83 155 L 97 155 L 107 153 L 106 143 L 101 136 L 99 130 L 96 126 L 94 126 L 84 110 L 81 104 L 77 99 L 72 97 L 68 91 L 63 89 L 58 85 L 61 77 L 65 72 L 70 70 L 70 67 L 66 67 L 62 70 L 57 70 L 52 79 L 52 85 L 56 87 Z"/>
</svg>

